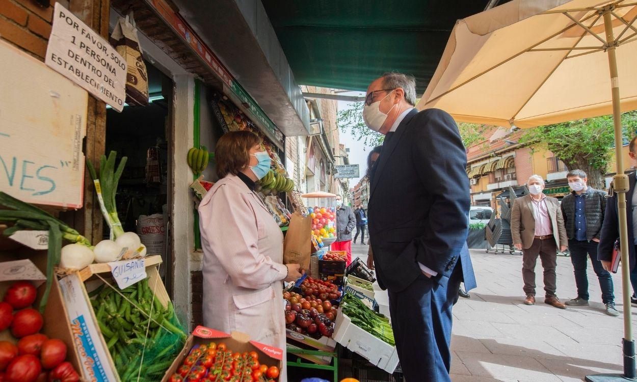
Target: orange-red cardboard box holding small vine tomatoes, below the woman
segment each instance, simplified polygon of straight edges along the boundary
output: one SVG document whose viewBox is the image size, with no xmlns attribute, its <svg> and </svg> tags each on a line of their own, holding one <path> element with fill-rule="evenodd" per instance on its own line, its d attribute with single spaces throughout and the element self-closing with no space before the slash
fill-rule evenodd
<svg viewBox="0 0 637 382">
<path fill-rule="evenodd" d="M 179 353 L 173 364 L 166 371 L 166 374 L 164 374 L 162 382 L 168 382 L 170 376 L 175 374 L 180 365 L 182 365 L 184 358 L 189 355 L 193 346 L 209 344 L 211 342 L 223 342 L 227 346 L 227 349 L 233 352 L 243 353 L 245 351 L 256 351 L 259 355 L 260 364 L 276 366 L 281 369 L 281 362 L 283 360 L 282 349 L 257 343 L 256 341 L 250 341 L 250 336 L 245 333 L 232 332 L 232 334 L 227 334 L 218 330 L 198 326 L 192 331 L 185 345 L 183 345 L 181 353 Z"/>
</svg>

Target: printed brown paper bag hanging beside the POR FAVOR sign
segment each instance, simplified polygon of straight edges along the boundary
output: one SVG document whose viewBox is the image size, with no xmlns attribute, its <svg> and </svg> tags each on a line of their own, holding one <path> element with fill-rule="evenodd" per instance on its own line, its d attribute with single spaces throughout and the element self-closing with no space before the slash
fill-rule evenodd
<svg viewBox="0 0 637 382">
<path fill-rule="evenodd" d="M 148 106 L 148 74 L 141 55 L 140 39 L 137 36 L 132 11 L 126 18 L 119 18 L 111 34 L 111 44 L 128 64 L 126 103 L 134 106 Z"/>
</svg>

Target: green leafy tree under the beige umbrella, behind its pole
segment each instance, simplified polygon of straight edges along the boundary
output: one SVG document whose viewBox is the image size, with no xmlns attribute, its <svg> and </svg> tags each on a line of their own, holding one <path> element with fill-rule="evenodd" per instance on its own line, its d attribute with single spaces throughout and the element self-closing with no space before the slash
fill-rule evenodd
<svg viewBox="0 0 637 382">
<path fill-rule="evenodd" d="M 624 139 L 631 138 L 637 131 L 637 111 L 622 114 L 622 125 Z M 614 139 L 613 117 L 605 115 L 536 127 L 526 132 L 520 143 L 547 148 L 569 171 L 584 171 L 590 187 L 603 189 L 606 173 L 614 171 L 614 163 L 610 163 Z"/>
</svg>

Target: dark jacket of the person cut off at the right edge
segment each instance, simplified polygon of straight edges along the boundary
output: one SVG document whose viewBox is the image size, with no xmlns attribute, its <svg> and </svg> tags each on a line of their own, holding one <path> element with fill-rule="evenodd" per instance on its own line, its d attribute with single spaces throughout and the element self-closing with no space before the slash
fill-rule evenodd
<svg viewBox="0 0 637 382">
<path fill-rule="evenodd" d="M 630 260 L 630 269 L 635 266 L 635 246 L 634 246 L 634 228 L 633 228 L 633 194 L 635 190 L 635 173 L 628 175 L 630 188 L 626 192 L 626 217 L 628 223 L 628 257 Z M 598 245 L 598 259 L 611 261 L 613 259 L 613 244 L 619 239 L 619 209 L 617 208 L 617 194 L 613 194 L 606 201 L 606 211 L 604 213 L 604 223 L 601 226 L 601 235 Z M 621 248 L 626 246 L 621 245 Z"/>
</svg>

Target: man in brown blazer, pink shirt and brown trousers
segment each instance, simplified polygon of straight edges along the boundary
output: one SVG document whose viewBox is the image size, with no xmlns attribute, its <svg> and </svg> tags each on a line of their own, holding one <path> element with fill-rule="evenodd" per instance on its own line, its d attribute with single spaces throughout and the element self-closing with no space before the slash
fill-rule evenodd
<svg viewBox="0 0 637 382">
<path fill-rule="evenodd" d="M 555 294 L 557 249 L 566 250 L 568 243 L 562 210 L 557 199 L 542 193 L 544 180 L 541 176 L 531 175 L 527 187 L 530 194 L 515 199 L 511 211 L 513 246 L 522 251 L 524 304 L 535 304 L 535 265 L 539 256 L 544 268 L 544 302 L 564 309 L 566 305 Z"/>
</svg>

